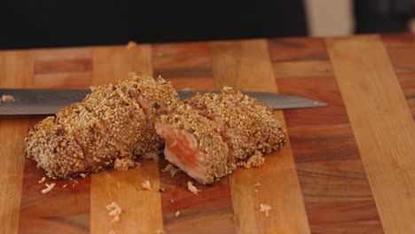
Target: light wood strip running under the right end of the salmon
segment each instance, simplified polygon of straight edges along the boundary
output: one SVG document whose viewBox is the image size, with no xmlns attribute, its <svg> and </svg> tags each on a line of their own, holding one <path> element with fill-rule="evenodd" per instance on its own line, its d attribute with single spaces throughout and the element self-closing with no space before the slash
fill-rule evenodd
<svg viewBox="0 0 415 234">
<path fill-rule="evenodd" d="M 277 91 L 266 41 L 218 42 L 211 47 L 218 88 Z M 285 124 L 282 112 L 276 116 Z M 239 169 L 230 181 L 239 233 L 309 233 L 289 143 L 281 152 L 268 155 L 260 169 Z M 259 192 L 254 191 L 255 183 L 262 184 Z M 261 203 L 272 207 L 269 217 L 259 213 Z"/>
</svg>

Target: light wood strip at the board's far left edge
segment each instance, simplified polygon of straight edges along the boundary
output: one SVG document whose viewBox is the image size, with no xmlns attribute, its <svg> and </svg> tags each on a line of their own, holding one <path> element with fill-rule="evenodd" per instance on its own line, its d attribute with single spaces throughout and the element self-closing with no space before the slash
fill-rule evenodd
<svg viewBox="0 0 415 234">
<path fill-rule="evenodd" d="M 0 51 L 0 87 L 30 87 L 32 67 L 31 51 Z M 19 229 L 27 127 L 27 118 L 0 118 L 0 233 Z"/>
</svg>

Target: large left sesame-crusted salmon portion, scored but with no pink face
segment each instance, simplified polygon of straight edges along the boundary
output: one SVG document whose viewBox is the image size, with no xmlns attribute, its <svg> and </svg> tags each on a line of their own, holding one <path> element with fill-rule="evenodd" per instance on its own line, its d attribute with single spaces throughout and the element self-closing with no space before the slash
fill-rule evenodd
<svg viewBox="0 0 415 234">
<path fill-rule="evenodd" d="M 148 90 L 152 94 L 147 94 Z M 118 158 L 133 159 L 154 152 L 161 148 L 162 141 L 153 129 L 153 119 L 174 97 L 176 91 L 162 78 L 131 75 L 116 85 L 100 86 L 82 103 L 68 105 L 55 118 L 48 117 L 29 129 L 27 156 L 36 160 L 47 175 L 65 178 L 101 170 Z M 149 112 L 145 114 L 144 110 Z M 73 149 L 60 149 L 62 141 Z M 81 160 L 76 160 L 79 155 Z"/>
</svg>

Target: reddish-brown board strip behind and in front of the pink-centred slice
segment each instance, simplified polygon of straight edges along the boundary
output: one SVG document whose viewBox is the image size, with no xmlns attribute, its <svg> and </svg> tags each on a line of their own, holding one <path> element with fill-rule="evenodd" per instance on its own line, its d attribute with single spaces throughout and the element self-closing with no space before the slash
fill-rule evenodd
<svg viewBox="0 0 415 234">
<path fill-rule="evenodd" d="M 155 71 L 161 71 L 176 90 L 215 90 L 207 43 L 156 45 L 154 53 Z M 161 193 L 164 230 L 168 233 L 236 232 L 229 177 L 222 178 L 214 186 L 203 186 L 183 172 L 171 177 L 163 171 L 167 160 L 161 160 L 160 165 L 161 187 L 166 190 Z M 201 190 L 199 196 L 188 191 L 188 181 Z"/>
</svg>

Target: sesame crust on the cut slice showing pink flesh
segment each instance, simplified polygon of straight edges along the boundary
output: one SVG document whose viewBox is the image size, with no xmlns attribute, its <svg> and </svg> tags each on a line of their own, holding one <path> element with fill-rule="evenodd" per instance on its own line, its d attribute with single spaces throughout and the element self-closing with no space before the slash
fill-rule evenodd
<svg viewBox="0 0 415 234">
<path fill-rule="evenodd" d="M 215 179 L 231 174 L 234 168 L 228 160 L 228 147 L 214 121 L 200 116 L 190 105 L 179 102 L 172 105 L 172 113 L 161 115 L 160 122 L 196 138 L 200 152 L 205 155 L 202 159 L 207 175 L 205 183 L 214 183 Z"/>
</svg>

